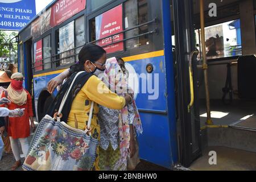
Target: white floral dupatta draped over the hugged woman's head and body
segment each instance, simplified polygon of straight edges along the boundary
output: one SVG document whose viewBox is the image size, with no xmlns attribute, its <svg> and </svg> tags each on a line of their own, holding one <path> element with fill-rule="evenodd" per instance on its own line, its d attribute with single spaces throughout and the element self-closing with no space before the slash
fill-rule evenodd
<svg viewBox="0 0 256 182">
<path fill-rule="evenodd" d="M 127 78 L 123 74 L 121 68 L 118 65 L 117 59 L 112 57 L 106 61 L 106 70 L 102 81 L 106 85 L 109 85 L 109 89 L 112 92 L 117 93 L 119 96 L 125 96 L 127 93 Z M 133 91 L 129 88 L 129 93 Z M 139 112 L 133 100 L 132 104 L 124 107 L 118 116 L 118 130 L 119 130 L 119 148 L 121 152 L 121 158 L 115 165 L 115 169 L 126 170 L 127 168 L 127 156 L 129 156 L 130 147 L 130 124 L 133 124 L 138 134 L 142 134 L 142 123 L 139 117 Z"/>
</svg>

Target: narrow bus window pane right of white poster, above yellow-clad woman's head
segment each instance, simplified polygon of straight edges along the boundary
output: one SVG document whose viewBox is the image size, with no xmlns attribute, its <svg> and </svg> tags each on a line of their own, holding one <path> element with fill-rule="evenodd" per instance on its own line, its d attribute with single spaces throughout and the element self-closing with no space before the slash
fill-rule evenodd
<svg viewBox="0 0 256 182">
<path fill-rule="evenodd" d="M 85 44 L 85 19 L 84 16 L 77 18 L 75 20 L 75 46 L 76 54 L 80 52 L 82 46 Z M 78 47 L 78 48 L 77 48 Z M 76 56 L 76 61 L 79 61 L 78 55 Z"/>
</svg>

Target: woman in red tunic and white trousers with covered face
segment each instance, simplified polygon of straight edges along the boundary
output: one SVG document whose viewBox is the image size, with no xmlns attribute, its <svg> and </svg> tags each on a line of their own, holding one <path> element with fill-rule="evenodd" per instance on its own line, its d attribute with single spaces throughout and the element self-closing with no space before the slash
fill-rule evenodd
<svg viewBox="0 0 256 182">
<path fill-rule="evenodd" d="M 11 84 L 7 88 L 8 99 L 11 101 L 7 104 L 7 108 L 10 110 L 22 109 L 24 115 L 20 118 L 9 118 L 8 135 L 10 137 L 11 149 L 16 162 L 14 163 L 12 170 L 15 170 L 21 165 L 19 144 L 22 147 L 23 155 L 26 158 L 28 152 L 28 137 L 30 136 L 30 122 L 31 127 L 34 128 L 34 119 L 32 111 L 32 99 L 30 93 L 23 88 L 23 75 L 22 73 L 14 73 L 11 76 Z M 5 92 L 2 93 L 2 97 L 5 96 Z"/>
</svg>

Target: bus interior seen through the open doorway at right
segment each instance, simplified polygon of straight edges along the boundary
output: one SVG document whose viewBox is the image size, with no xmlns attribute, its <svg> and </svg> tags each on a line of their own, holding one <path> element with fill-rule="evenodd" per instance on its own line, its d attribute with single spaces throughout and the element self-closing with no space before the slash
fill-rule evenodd
<svg viewBox="0 0 256 182">
<path fill-rule="evenodd" d="M 201 155 L 189 167 L 192 170 L 256 169 L 256 1 L 204 1 L 205 46 L 208 62 L 210 116 L 207 118 L 200 0 L 193 0 L 192 24 L 196 49 L 193 66 L 200 115 Z M 176 49 L 177 13 L 171 2 L 172 46 Z M 216 8 L 216 9 L 214 9 Z M 216 14 L 214 15 L 214 11 Z M 187 13 L 184 13 L 187 14 Z M 189 14 L 189 13 L 188 13 Z M 186 15 L 185 15 L 186 16 Z M 189 15 L 187 15 L 188 17 Z M 175 58 L 174 58 L 175 59 Z M 175 61 L 175 60 L 174 60 Z M 177 63 L 176 63 L 177 64 Z M 199 122 L 199 119 L 196 119 Z M 195 123 L 191 123 L 192 128 Z M 193 140 L 191 140 L 191 145 Z M 192 149 L 193 150 L 193 149 Z M 217 165 L 208 162 L 211 151 Z"/>
</svg>

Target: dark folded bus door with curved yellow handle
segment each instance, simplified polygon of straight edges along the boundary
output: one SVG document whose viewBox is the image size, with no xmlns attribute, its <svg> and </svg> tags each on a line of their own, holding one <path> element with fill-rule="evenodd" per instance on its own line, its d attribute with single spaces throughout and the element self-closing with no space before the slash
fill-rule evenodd
<svg viewBox="0 0 256 182">
<path fill-rule="evenodd" d="M 175 35 L 175 89 L 179 162 L 189 167 L 201 155 L 199 81 L 193 26 L 193 1 L 172 1 Z M 174 44 L 174 43 L 173 43 Z"/>
</svg>

